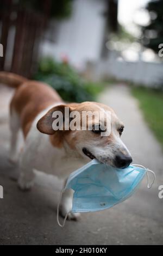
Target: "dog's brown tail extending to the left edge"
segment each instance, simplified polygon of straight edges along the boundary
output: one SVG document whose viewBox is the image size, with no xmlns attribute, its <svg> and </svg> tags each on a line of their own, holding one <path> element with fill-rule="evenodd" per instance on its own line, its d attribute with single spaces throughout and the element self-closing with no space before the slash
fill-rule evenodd
<svg viewBox="0 0 163 256">
<path fill-rule="evenodd" d="M 22 83 L 26 82 L 27 78 L 23 76 L 16 75 L 14 73 L 1 71 L 0 72 L 0 83 L 7 84 L 7 86 L 12 88 L 17 88 Z"/>
</svg>

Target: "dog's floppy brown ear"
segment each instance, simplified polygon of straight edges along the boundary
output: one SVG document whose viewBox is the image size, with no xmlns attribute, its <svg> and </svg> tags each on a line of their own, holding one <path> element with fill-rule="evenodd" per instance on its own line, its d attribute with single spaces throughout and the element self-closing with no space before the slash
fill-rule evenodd
<svg viewBox="0 0 163 256">
<path fill-rule="evenodd" d="M 65 121 L 65 109 L 66 109 L 66 111 L 69 111 L 69 113 L 72 111 L 72 107 L 69 107 L 68 105 L 59 105 L 59 106 L 51 108 L 37 122 L 37 129 L 42 133 L 46 133 L 48 135 L 53 135 L 55 133 L 55 129 L 53 129 L 53 121 L 57 118 L 56 115 L 59 114 L 59 116 L 61 118 L 60 123 L 63 123 Z M 69 116 L 68 116 L 68 118 L 69 118 Z"/>
</svg>

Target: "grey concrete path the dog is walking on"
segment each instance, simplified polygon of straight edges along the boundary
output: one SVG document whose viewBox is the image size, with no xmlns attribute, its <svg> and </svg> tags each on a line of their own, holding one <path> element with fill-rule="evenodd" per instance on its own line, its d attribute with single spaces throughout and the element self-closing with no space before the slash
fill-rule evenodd
<svg viewBox="0 0 163 256">
<path fill-rule="evenodd" d="M 163 199 L 158 198 L 158 186 L 163 185 L 162 151 L 127 87 L 106 89 L 99 101 L 112 106 L 124 121 L 122 139 L 133 153 L 135 163 L 155 170 L 154 187 L 148 190 L 144 179 L 139 190 L 122 204 L 103 212 L 83 214 L 79 222 L 67 221 L 65 228 L 56 222 L 61 181 L 38 173 L 32 191 L 21 192 L 17 188 L 17 166 L 7 160 L 11 94 L 11 90 L 0 88 L 0 185 L 4 187 L 4 199 L 0 199 L 1 245 L 163 244 Z"/>
</svg>

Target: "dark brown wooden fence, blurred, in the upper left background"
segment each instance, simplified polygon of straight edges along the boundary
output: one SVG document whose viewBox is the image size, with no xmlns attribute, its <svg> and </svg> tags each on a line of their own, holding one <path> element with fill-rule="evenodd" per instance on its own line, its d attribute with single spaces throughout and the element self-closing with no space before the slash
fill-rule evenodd
<svg viewBox="0 0 163 256">
<path fill-rule="evenodd" d="M 24 10 L 13 2 L 1 0 L 0 44 L 3 45 L 3 57 L 0 58 L 0 70 L 29 78 L 36 68 L 41 35 L 47 19 L 46 15 Z"/>
</svg>

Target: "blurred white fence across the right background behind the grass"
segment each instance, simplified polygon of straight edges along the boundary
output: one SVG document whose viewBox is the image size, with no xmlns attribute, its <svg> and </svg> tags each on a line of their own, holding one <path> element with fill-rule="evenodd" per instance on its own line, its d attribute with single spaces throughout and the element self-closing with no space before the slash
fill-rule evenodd
<svg viewBox="0 0 163 256">
<path fill-rule="evenodd" d="M 114 77 L 117 80 L 131 81 L 148 87 L 158 87 L 163 84 L 163 63 L 108 59 L 94 63 L 91 73 L 95 80 Z"/>
</svg>

